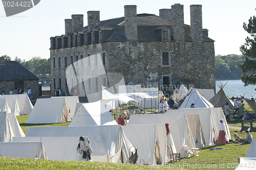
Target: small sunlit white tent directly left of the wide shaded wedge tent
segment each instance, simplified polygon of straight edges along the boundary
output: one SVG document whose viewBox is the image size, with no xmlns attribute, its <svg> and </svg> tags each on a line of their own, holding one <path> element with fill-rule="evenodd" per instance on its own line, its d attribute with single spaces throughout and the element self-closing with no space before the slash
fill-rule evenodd
<svg viewBox="0 0 256 170">
<path fill-rule="evenodd" d="M 15 94 L 18 103 L 20 115 L 30 114 L 33 109 L 33 105 L 29 100 L 28 94 Z"/>
</svg>

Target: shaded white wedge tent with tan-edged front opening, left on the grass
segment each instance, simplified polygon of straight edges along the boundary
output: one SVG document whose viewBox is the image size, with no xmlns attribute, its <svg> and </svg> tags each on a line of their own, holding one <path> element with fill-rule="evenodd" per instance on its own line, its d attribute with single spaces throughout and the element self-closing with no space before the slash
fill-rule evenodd
<svg viewBox="0 0 256 170">
<path fill-rule="evenodd" d="M 70 121 L 65 98 L 37 99 L 27 124 L 55 124 Z"/>
</svg>

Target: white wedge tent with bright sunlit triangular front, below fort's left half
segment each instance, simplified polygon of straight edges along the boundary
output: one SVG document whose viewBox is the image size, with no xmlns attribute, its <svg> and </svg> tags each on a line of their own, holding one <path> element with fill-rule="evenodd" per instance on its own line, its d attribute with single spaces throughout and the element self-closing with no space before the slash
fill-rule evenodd
<svg viewBox="0 0 256 170">
<path fill-rule="evenodd" d="M 117 125 L 109 110 L 101 101 L 80 106 L 69 126 Z"/>
</svg>

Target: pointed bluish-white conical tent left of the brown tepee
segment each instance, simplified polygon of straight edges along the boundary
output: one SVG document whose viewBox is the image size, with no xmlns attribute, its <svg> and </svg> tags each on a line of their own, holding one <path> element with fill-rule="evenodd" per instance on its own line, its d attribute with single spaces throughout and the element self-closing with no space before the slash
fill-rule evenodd
<svg viewBox="0 0 256 170">
<path fill-rule="evenodd" d="M 193 88 L 186 96 L 184 102 L 180 105 L 180 108 L 190 108 L 191 104 L 195 104 L 195 108 L 211 108 L 214 107 L 209 101 L 207 101 L 196 88 Z"/>
</svg>

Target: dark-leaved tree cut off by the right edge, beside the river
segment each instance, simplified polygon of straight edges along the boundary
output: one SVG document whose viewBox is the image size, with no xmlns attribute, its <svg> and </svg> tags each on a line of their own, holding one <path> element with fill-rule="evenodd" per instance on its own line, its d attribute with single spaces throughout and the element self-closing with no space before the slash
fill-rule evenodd
<svg viewBox="0 0 256 170">
<path fill-rule="evenodd" d="M 256 10 L 256 9 L 255 9 Z M 240 47 L 243 55 L 246 55 L 245 61 L 239 64 L 242 68 L 242 81 L 244 85 L 256 84 L 256 17 L 250 17 L 249 23 L 243 24 L 244 30 L 250 34 L 251 37 L 245 39 L 244 45 Z M 255 88 L 256 90 L 256 88 Z"/>
</svg>

